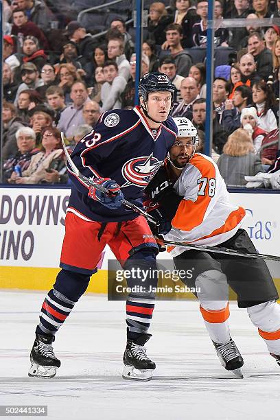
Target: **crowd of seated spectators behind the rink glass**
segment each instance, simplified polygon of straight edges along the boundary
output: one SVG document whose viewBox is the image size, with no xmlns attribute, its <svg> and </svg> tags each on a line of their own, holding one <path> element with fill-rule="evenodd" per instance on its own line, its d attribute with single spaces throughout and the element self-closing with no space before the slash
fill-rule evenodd
<svg viewBox="0 0 280 420">
<path fill-rule="evenodd" d="M 208 1 L 147 3 L 141 73 L 170 77 L 172 116 L 193 121 L 203 152 Z M 94 12 L 78 21 L 51 0 L 3 0 L 3 183 L 69 183 L 60 131 L 72 150 L 101 113 L 135 106 L 135 28 L 118 4 L 99 36 Z M 216 26 L 212 86 L 212 157 L 227 185 L 245 186 L 280 166 L 280 27 L 254 23 L 279 18 L 280 0 L 215 0 L 214 13 L 248 19 Z"/>
</svg>

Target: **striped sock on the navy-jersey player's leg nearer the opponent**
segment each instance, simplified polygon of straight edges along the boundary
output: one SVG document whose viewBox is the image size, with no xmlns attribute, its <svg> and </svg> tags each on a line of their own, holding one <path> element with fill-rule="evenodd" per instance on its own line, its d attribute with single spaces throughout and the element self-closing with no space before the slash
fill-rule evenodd
<svg viewBox="0 0 280 420">
<path fill-rule="evenodd" d="M 154 297 L 130 294 L 126 301 L 126 325 L 128 338 L 135 339 L 141 334 L 147 334 L 154 310 Z"/>
</svg>

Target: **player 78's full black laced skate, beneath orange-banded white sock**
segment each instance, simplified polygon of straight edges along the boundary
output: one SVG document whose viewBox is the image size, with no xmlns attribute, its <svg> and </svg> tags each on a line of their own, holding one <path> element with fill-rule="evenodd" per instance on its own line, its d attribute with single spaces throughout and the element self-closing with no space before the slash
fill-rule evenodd
<svg viewBox="0 0 280 420">
<path fill-rule="evenodd" d="M 226 369 L 226 371 L 232 371 L 238 377 L 243 378 L 244 376 L 241 367 L 243 366 L 244 361 L 233 339 L 231 338 L 229 342 L 224 344 L 218 344 L 213 341 L 213 345 L 224 369 Z"/>
</svg>

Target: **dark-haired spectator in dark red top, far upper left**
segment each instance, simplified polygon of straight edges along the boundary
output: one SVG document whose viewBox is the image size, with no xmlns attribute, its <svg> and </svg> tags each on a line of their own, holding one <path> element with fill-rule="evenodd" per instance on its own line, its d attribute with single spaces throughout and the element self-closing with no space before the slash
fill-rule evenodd
<svg viewBox="0 0 280 420">
<path fill-rule="evenodd" d="M 23 9 L 14 9 L 12 11 L 12 35 L 23 34 L 35 36 L 38 39 L 40 47 L 48 49 L 49 44 L 43 31 L 33 22 L 28 21 L 27 14 Z"/>
</svg>

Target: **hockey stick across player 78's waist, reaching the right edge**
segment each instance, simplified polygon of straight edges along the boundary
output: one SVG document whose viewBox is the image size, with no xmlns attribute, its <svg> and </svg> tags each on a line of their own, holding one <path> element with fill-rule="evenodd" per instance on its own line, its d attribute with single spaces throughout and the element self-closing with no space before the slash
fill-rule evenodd
<svg viewBox="0 0 280 420">
<path fill-rule="evenodd" d="M 280 261 L 280 257 L 277 255 L 267 255 L 258 253 L 242 253 L 242 251 L 231 249 L 231 248 L 219 248 L 218 246 L 206 246 L 206 245 L 191 245 L 186 242 L 174 242 L 174 241 L 163 241 L 163 244 L 168 246 L 181 246 L 186 249 L 200 250 L 207 253 L 227 254 L 234 255 L 235 257 L 247 257 L 247 258 L 264 258 L 272 259 L 273 261 Z"/>
</svg>

